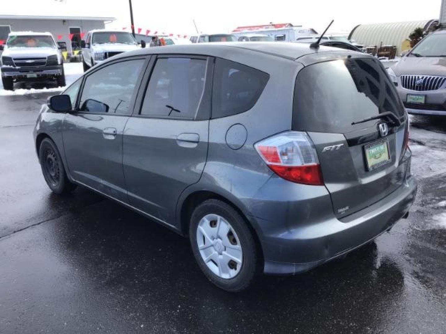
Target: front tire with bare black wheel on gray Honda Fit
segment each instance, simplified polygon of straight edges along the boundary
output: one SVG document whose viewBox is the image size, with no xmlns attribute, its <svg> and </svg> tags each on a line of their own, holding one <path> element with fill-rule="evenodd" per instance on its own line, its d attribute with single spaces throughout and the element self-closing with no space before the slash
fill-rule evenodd
<svg viewBox="0 0 446 334">
<path fill-rule="evenodd" d="M 62 158 L 56 144 L 50 139 L 42 140 L 39 147 L 39 162 L 48 187 L 56 194 L 66 194 L 76 188 L 66 176 Z"/>
</svg>

